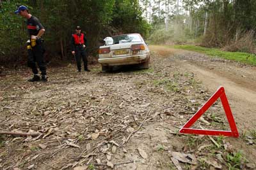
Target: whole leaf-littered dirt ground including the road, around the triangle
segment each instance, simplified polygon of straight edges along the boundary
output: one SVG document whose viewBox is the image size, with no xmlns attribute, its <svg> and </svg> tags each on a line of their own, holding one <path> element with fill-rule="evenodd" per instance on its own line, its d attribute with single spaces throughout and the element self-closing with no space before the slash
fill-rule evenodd
<svg viewBox="0 0 256 170">
<path fill-rule="evenodd" d="M 255 67 L 200 53 L 150 46 L 150 69 L 76 73 L 49 69 L 28 83 L 28 69 L 0 80 L 0 169 L 254 169 Z M 241 138 L 178 131 L 222 85 Z M 229 130 L 217 102 L 196 128 Z"/>
</svg>

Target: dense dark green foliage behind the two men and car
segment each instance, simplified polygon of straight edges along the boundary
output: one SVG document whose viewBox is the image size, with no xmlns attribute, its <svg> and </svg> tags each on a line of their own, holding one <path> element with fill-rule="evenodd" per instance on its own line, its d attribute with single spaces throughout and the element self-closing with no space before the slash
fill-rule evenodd
<svg viewBox="0 0 256 170">
<path fill-rule="evenodd" d="M 1 64 L 20 64 L 26 60 L 26 19 L 14 14 L 19 4 L 28 6 L 29 12 L 44 25 L 49 60 L 72 57 L 70 39 L 76 25 L 83 28 L 88 38 L 88 52 L 92 54 L 97 53 L 100 40 L 106 36 L 129 32 L 147 36 L 150 29 L 138 0 L 0 1 Z"/>
</svg>

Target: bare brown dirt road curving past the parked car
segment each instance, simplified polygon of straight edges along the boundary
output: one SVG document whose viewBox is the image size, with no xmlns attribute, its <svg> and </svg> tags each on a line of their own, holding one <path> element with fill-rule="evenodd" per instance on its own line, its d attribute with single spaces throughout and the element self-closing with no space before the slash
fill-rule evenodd
<svg viewBox="0 0 256 170">
<path fill-rule="evenodd" d="M 163 46 L 151 46 L 151 50 L 162 55 L 174 56 L 176 66 L 195 73 L 196 78 L 202 81 L 202 85 L 212 92 L 220 86 L 225 87 L 232 111 L 241 129 L 255 128 L 256 67 Z"/>
</svg>

